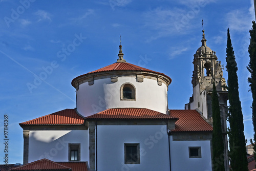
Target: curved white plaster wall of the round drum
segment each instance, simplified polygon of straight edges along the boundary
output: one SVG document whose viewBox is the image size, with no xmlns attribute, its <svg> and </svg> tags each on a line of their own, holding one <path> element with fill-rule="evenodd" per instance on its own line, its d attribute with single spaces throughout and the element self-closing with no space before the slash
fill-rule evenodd
<svg viewBox="0 0 256 171">
<path fill-rule="evenodd" d="M 136 101 L 120 100 L 120 87 L 130 82 L 136 88 Z M 92 86 L 88 82 L 79 85 L 77 94 L 77 111 L 83 116 L 111 108 L 147 108 L 166 114 L 167 87 L 158 86 L 157 80 L 144 78 L 137 82 L 136 77 L 118 77 L 117 82 L 110 78 L 98 79 Z"/>
</svg>

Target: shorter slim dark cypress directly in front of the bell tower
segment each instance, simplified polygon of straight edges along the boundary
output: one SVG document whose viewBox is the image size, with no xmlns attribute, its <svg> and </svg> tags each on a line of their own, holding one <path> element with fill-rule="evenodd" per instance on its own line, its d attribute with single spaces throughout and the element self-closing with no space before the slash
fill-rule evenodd
<svg viewBox="0 0 256 171">
<path fill-rule="evenodd" d="M 216 86 L 214 83 L 214 90 L 211 95 L 211 104 L 212 104 L 212 120 L 214 131 L 212 133 L 212 164 L 213 170 L 215 171 L 225 171 L 224 162 L 221 161 L 224 156 L 224 143 L 222 138 L 222 129 L 221 129 L 221 112 L 218 94 L 216 91 Z"/>
</svg>

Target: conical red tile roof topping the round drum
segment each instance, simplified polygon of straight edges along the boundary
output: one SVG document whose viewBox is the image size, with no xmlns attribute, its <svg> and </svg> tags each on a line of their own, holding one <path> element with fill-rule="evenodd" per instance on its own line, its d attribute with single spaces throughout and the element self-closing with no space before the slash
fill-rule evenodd
<svg viewBox="0 0 256 171">
<path fill-rule="evenodd" d="M 100 68 L 98 70 L 89 72 L 87 74 L 80 75 L 78 77 L 83 77 L 83 76 L 86 76 L 86 75 L 89 75 L 89 74 L 92 74 L 92 73 L 105 72 L 105 71 L 141 71 L 141 72 L 149 72 L 149 73 L 155 73 L 155 74 L 163 75 L 163 76 L 167 77 L 170 80 L 170 82 L 172 82 L 172 79 L 170 79 L 170 77 L 168 77 L 167 75 L 165 75 L 163 73 L 148 70 L 146 68 L 142 68 L 142 67 L 139 67 L 139 66 L 133 65 L 132 63 L 127 63 L 127 62 L 116 62 L 116 63 L 113 63 L 109 66 Z M 77 79 L 78 77 L 76 77 L 72 80 L 72 82 L 71 82 L 72 85 L 73 85 L 73 81 L 75 79 Z"/>
</svg>

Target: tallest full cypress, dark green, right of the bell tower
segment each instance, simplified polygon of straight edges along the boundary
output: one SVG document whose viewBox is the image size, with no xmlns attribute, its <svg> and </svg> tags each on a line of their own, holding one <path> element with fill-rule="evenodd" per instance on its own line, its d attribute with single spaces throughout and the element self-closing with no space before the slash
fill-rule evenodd
<svg viewBox="0 0 256 171">
<path fill-rule="evenodd" d="M 229 100 L 229 157 L 230 166 L 233 171 L 248 171 L 246 157 L 246 143 L 244 137 L 243 113 L 238 92 L 237 62 L 231 44 L 229 29 L 227 30 L 226 61 L 228 72 L 228 100 Z"/>
</svg>

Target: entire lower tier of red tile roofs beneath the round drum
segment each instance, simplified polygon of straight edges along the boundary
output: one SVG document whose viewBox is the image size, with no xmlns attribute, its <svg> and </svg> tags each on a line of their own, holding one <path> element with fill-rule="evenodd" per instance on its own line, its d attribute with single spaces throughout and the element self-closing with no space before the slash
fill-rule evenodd
<svg viewBox="0 0 256 171">
<path fill-rule="evenodd" d="M 19 123 L 20 126 L 43 125 L 84 125 L 86 120 L 100 120 L 104 122 L 117 120 L 173 120 L 178 132 L 211 132 L 212 126 L 208 124 L 196 110 L 169 110 L 169 115 L 144 108 L 115 108 L 96 113 L 86 118 L 81 117 L 76 109 L 65 109 L 50 115 L 42 116 L 30 121 Z M 46 129 L 44 129 L 46 130 Z"/>
</svg>

